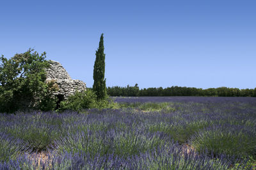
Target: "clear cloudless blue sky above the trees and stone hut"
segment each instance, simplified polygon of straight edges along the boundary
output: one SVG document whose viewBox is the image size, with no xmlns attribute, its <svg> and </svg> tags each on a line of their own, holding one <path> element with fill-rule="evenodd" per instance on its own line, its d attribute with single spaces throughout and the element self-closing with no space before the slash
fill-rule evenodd
<svg viewBox="0 0 256 170">
<path fill-rule="evenodd" d="M 255 0 L 6 0 L 0 7 L 0 54 L 45 51 L 88 87 L 102 32 L 107 87 L 256 87 Z"/>
</svg>

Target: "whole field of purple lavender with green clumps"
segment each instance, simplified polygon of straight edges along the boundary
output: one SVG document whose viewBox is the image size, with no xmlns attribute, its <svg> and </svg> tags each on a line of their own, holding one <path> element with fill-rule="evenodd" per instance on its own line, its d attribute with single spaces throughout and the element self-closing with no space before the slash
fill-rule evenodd
<svg viewBox="0 0 256 170">
<path fill-rule="evenodd" d="M 255 166 L 256 98 L 114 100 L 115 110 L 0 114 L 0 169 Z"/>
</svg>

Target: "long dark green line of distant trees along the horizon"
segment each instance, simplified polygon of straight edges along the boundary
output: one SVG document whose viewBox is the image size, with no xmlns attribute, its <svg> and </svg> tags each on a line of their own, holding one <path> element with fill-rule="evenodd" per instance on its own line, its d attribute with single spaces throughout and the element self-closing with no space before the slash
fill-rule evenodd
<svg viewBox="0 0 256 170">
<path fill-rule="evenodd" d="M 256 97 L 255 89 L 237 89 L 218 87 L 198 89 L 195 87 L 159 87 L 139 89 L 138 84 L 134 87 L 108 87 L 109 96 L 219 96 L 219 97 Z"/>
</svg>

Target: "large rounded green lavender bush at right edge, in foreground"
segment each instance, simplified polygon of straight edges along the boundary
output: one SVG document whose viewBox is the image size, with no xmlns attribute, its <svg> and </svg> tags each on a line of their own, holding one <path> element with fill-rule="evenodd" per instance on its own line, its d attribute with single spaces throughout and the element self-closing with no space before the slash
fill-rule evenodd
<svg viewBox="0 0 256 170">
<path fill-rule="evenodd" d="M 248 157 L 256 153 L 256 132 L 246 125 L 214 125 L 191 136 L 190 143 L 198 151 L 207 148 L 214 153 Z"/>
</svg>

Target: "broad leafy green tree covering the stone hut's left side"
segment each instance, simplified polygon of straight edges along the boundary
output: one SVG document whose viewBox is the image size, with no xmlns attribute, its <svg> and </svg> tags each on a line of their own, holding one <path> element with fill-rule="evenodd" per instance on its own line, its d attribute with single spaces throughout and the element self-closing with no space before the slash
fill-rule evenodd
<svg viewBox="0 0 256 170">
<path fill-rule="evenodd" d="M 46 83 L 45 52 L 38 55 L 33 49 L 14 57 L 0 58 L 0 113 L 13 113 L 29 108 L 52 110 L 56 90 L 54 83 Z"/>
</svg>

